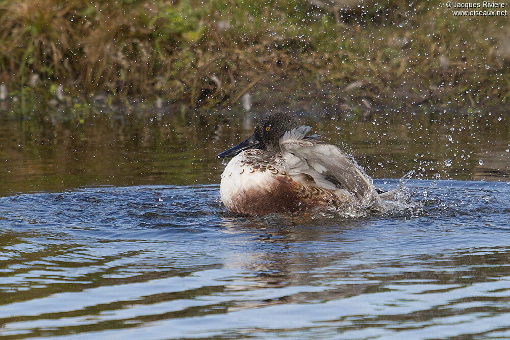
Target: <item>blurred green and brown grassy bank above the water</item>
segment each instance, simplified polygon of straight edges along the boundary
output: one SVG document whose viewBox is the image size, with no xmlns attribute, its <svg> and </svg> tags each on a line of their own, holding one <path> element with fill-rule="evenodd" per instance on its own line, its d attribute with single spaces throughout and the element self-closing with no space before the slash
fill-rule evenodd
<svg viewBox="0 0 510 340">
<path fill-rule="evenodd" d="M 324 89 L 345 104 L 508 102 L 508 17 L 391 3 L 335 12 L 305 0 L 7 0 L 0 83 L 21 100 L 100 94 L 192 108 Z"/>
</svg>

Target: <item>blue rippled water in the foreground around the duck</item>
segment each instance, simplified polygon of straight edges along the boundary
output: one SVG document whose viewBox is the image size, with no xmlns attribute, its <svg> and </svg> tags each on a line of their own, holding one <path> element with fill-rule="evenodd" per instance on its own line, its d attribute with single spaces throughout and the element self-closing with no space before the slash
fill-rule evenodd
<svg viewBox="0 0 510 340">
<path fill-rule="evenodd" d="M 1 334 L 510 335 L 510 185 L 408 186 L 423 211 L 362 219 L 238 218 L 217 185 L 4 197 Z"/>
</svg>

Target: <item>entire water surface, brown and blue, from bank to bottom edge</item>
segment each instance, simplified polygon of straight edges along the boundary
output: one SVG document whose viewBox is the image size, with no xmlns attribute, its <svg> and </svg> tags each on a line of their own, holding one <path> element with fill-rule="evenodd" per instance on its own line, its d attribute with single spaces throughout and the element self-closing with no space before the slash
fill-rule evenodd
<svg viewBox="0 0 510 340">
<path fill-rule="evenodd" d="M 505 121 L 311 121 L 416 171 L 412 206 L 354 219 L 229 214 L 215 155 L 247 131 L 168 119 L 2 121 L 0 337 L 510 336 Z"/>
</svg>

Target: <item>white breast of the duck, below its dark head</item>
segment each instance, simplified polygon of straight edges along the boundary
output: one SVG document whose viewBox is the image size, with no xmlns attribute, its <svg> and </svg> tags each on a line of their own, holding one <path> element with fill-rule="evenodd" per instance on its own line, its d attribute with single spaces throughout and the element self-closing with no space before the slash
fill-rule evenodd
<svg viewBox="0 0 510 340">
<path fill-rule="evenodd" d="M 274 190 L 275 175 L 271 171 L 254 171 L 251 166 L 244 164 L 244 152 L 228 162 L 221 175 L 220 198 L 228 210 L 242 204 L 250 195 Z"/>
</svg>

